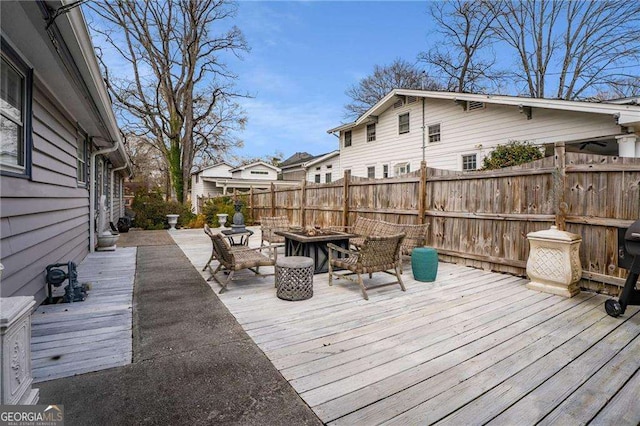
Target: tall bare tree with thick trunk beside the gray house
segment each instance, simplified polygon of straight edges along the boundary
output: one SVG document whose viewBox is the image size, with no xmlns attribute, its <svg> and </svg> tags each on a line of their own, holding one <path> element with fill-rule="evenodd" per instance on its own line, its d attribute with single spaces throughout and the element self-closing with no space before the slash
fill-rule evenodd
<svg viewBox="0 0 640 426">
<path fill-rule="evenodd" d="M 233 145 L 220 143 L 224 126 L 246 120 L 229 104 L 237 96 L 236 76 L 221 56 L 248 51 L 247 44 L 235 26 L 213 34 L 236 7 L 227 0 L 97 1 L 89 7 L 102 18 L 92 30 L 129 68 L 126 76 L 104 68 L 123 130 L 157 148 L 175 196 L 184 201 L 195 156 Z M 224 102 L 226 114 L 220 114 Z"/>
</svg>

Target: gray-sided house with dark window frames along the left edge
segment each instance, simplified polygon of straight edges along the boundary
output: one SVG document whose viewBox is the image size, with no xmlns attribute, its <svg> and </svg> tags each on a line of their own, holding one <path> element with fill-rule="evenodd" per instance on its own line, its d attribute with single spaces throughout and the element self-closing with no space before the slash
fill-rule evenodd
<svg viewBox="0 0 640 426">
<path fill-rule="evenodd" d="M 131 173 L 82 12 L 63 4 L 0 2 L 0 295 L 37 303 L 47 265 L 94 250 L 101 196 L 123 216 Z"/>
</svg>

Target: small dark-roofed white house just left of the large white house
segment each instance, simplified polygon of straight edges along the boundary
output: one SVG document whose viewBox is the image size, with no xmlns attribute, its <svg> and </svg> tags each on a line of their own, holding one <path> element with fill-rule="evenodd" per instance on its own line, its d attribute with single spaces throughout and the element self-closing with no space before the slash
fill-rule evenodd
<svg viewBox="0 0 640 426">
<path fill-rule="evenodd" d="M 313 156 L 306 152 L 296 152 L 280 165 L 282 179 L 303 179 L 315 183 L 330 183 L 340 179 L 340 151 Z"/>
</svg>

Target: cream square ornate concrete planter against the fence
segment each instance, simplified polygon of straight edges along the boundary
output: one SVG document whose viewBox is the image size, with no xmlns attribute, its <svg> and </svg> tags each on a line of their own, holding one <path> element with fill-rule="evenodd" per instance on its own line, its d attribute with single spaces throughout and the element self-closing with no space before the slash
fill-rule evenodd
<svg viewBox="0 0 640 426">
<path fill-rule="evenodd" d="M 551 229 L 530 232 L 527 288 L 559 296 L 573 297 L 580 292 L 582 277 L 580 243 L 582 237 L 566 231 Z"/>
</svg>

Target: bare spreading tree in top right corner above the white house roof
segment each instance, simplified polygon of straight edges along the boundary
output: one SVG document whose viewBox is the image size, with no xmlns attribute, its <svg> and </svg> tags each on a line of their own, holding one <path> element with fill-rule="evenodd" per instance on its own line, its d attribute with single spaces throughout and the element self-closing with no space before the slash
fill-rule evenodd
<svg viewBox="0 0 640 426">
<path fill-rule="evenodd" d="M 639 2 L 518 0 L 502 10 L 498 34 L 517 52 L 514 77 L 529 96 L 582 99 L 637 78 Z"/>
</svg>

